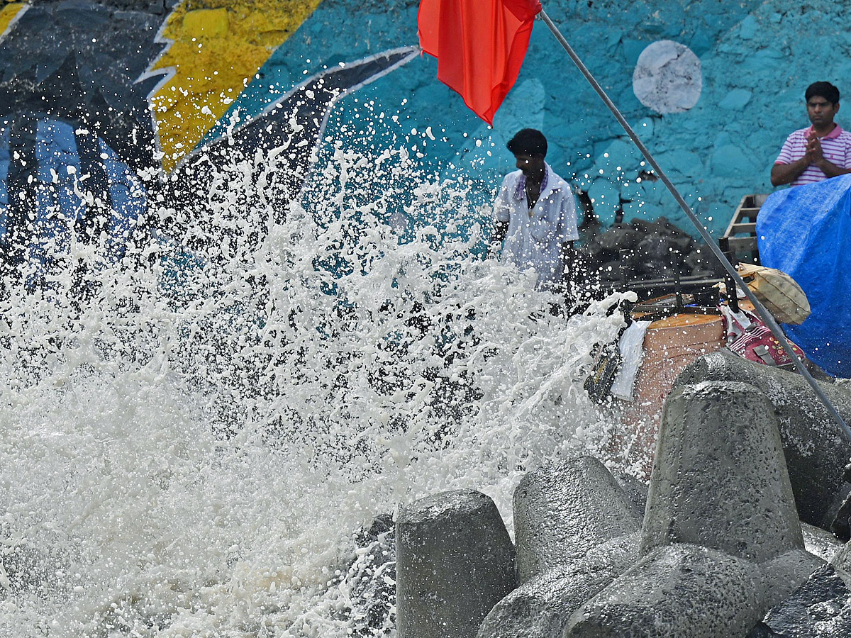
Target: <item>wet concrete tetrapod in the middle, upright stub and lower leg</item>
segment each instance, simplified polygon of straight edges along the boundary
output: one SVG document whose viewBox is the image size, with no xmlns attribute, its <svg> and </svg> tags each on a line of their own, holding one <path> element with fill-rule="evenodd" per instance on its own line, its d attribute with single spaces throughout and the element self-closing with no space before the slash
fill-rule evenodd
<svg viewBox="0 0 851 638">
<path fill-rule="evenodd" d="M 599 460 L 578 457 L 523 476 L 513 506 L 519 586 L 478 637 L 560 636 L 576 609 L 637 561 L 636 504 Z"/>
</svg>

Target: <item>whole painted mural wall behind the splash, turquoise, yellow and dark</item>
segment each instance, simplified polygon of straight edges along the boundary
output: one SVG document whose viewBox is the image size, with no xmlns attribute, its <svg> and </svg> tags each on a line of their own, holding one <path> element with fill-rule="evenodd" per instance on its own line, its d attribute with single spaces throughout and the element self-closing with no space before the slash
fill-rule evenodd
<svg viewBox="0 0 851 638">
<path fill-rule="evenodd" d="M 851 91 L 844 3 L 545 10 L 715 234 L 743 195 L 771 191 L 780 144 L 808 123 L 808 83 Z M 203 191 L 208 178 L 181 168 L 281 146 L 282 200 L 342 144 L 403 145 L 424 172 L 463 174 L 487 202 L 523 127 L 545 132 L 548 161 L 603 223 L 622 210 L 688 227 L 542 22 L 490 128 L 417 53 L 416 11 L 414 0 L 0 0 L 0 232 L 9 242 L 34 216 L 56 236 L 67 229 L 49 211 L 107 210 L 120 255 L 151 197 Z"/>
</svg>

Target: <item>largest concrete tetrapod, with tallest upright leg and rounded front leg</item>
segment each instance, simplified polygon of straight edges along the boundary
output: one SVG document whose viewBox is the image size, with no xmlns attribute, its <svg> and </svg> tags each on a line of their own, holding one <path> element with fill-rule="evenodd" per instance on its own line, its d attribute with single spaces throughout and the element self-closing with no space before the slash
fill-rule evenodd
<svg viewBox="0 0 851 638">
<path fill-rule="evenodd" d="M 757 388 L 706 382 L 668 397 L 641 551 L 566 637 L 745 635 L 821 564 L 803 549 L 777 419 Z"/>
</svg>

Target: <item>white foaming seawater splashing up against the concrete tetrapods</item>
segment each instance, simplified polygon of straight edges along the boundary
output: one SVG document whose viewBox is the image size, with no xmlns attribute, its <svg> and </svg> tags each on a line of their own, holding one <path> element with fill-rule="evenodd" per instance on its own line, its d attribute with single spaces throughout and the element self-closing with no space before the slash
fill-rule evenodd
<svg viewBox="0 0 851 638">
<path fill-rule="evenodd" d="M 511 529 L 523 472 L 601 453 L 611 300 L 553 315 L 485 259 L 461 171 L 338 144 L 281 208 L 260 160 L 118 264 L 71 242 L 87 294 L 7 281 L 0 635 L 394 635 L 352 580 L 376 516 L 472 487 Z"/>
</svg>

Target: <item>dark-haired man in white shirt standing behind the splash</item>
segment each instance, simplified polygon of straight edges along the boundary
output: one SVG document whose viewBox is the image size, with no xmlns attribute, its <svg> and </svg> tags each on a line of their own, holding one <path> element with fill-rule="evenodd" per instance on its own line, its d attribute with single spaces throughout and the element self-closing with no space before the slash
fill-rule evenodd
<svg viewBox="0 0 851 638">
<path fill-rule="evenodd" d="M 540 131 L 523 128 L 508 142 L 508 150 L 518 170 L 502 180 L 491 242 L 504 242 L 502 254 L 511 263 L 534 268 L 535 288 L 557 288 L 568 252 L 579 239 L 574 193 L 544 161 L 546 138 Z"/>
</svg>

